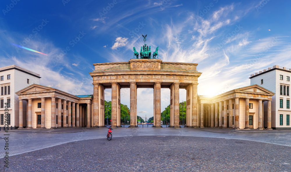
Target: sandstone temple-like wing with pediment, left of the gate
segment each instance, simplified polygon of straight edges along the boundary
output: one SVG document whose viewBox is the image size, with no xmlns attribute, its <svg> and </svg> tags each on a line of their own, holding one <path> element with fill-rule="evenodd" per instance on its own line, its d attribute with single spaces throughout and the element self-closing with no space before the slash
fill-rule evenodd
<svg viewBox="0 0 291 172">
<path fill-rule="evenodd" d="M 92 126 L 93 95 L 72 95 L 32 84 L 16 92 L 19 128 L 67 128 Z"/>
</svg>

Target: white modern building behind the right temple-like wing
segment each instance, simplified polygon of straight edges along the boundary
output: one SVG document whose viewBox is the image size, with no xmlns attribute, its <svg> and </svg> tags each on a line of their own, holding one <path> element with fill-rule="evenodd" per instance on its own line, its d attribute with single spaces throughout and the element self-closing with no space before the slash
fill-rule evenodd
<svg viewBox="0 0 291 172">
<path fill-rule="evenodd" d="M 272 128 L 291 129 L 290 127 L 290 76 L 291 69 L 275 65 L 251 75 L 252 84 L 266 88 L 274 93 L 272 96 Z M 267 103 L 264 103 L 266 111 Z M 266 119 L 264 119 L 266 120 Z"/>
</svg>

